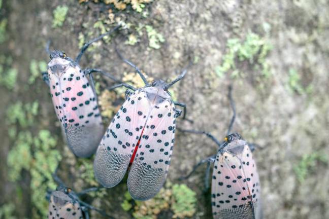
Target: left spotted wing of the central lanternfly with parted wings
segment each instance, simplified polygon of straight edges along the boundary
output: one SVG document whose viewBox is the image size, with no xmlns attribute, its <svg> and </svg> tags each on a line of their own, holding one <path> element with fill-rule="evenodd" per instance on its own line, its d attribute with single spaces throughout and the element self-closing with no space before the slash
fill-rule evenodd
<svg viewBox="0 0 329 219">
<path fill-rule="evenodd" d="M 123 103 L 109 125 L 94 160 L 95 177 L 104 187 L 114 187 L 122 180 L 149 111 L 145 91 L 138 90 Z"/>
</svg>

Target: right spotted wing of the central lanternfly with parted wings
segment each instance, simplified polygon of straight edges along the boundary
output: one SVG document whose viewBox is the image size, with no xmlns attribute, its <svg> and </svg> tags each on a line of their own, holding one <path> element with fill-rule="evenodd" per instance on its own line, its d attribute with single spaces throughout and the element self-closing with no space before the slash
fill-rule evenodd
<svg viewBox="0 0 329 219">
<path fill-rule="evenodd" d="M 174 115 L 175 106 L 167 99 L 151 109 L 127 180 L 134 199 L 152 198 L 166 180 L 175 138 Z"/>
</svg>

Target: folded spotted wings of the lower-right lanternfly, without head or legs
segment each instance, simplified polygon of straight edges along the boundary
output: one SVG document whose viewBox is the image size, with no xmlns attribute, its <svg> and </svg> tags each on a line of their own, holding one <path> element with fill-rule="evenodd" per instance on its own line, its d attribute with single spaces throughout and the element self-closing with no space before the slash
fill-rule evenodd
<svg viewBox="0 0 329 219">
<path fill-rule="evenodd" d="M 224 151 L 216 156 L 212 179 L 214 218 L 261 217 L 256 163 L 248 145 L 240 147 L 238 154 Z"/>
</svg>

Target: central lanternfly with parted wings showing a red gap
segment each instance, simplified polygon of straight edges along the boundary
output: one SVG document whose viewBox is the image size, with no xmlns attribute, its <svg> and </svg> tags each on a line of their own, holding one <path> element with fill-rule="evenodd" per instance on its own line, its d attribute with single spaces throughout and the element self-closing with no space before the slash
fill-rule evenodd
<svg viewBox="0 0 329 219">
<path fill-rule="evenodd" d="M 172 157 L 176 118 L 181 114 L 168 88 L 181 80 L 186 70 L 170 84 L 161 80 L 148 84 L 142 72 L 131 62 L 142 77 L 145 87 L 134 93 L 114 116 L 98 146 L 94 160 L 95 178 L 104 187 L 116 186 L 124 177 L 129 164 L 128 191 L 134 199 L 147 200 L 161 189 L 166 180 Z M 115 86 L 117 87 L 117 86 Z"/>
</svg>

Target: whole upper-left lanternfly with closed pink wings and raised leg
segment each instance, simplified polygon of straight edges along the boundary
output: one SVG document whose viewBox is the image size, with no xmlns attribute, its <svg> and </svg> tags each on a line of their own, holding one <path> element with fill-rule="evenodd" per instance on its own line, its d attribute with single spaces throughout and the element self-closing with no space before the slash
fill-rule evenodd
<svg viewBox="0 0 329 219">
<path fill-rule="evenodd" d="M 50 53 L 48 72 L 44 75 L 44 80 L 49 85 L 56 115 L 62 124 L 68 145 L 78 157 L 94 154 L 104 134 L 90 73 L 100 72 L 115 80 L 100 69 L 82 70 L 78 62 L 91 43 L 102 39 L 118 27 L 85 44 L 75 61 L 58 50 Z"/>
</svg>

